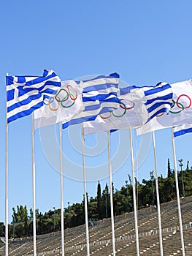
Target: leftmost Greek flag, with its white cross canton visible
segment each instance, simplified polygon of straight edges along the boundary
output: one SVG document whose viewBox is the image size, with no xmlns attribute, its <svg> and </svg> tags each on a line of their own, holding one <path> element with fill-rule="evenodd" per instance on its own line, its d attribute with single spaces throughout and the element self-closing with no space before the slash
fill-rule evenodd
<svg viewBox="0 0 192 256">
<path fill-rule="evenodd" d="M 7 76 L 7 123 L 41 108 L 45 98 L 55 94 L 61 80 L 53 70 L 42 77 Z"/>
</svg>

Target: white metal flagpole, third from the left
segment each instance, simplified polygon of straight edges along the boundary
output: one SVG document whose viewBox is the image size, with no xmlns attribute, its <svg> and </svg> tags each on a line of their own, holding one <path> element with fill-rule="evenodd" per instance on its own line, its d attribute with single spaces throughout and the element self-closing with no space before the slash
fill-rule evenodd
<svg viewBox="0 0 192 256">
<path fill-rule="evenodd" d="M 65 255 L 64 252 L 64 190 L 63 190 L 63 157 L 62 157 L 62 123 L 60 123 L 60 189 L 61 189 L 61 252 L 62 256 Z"/>
</svg>

